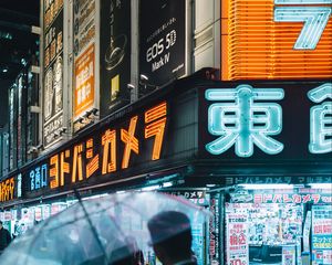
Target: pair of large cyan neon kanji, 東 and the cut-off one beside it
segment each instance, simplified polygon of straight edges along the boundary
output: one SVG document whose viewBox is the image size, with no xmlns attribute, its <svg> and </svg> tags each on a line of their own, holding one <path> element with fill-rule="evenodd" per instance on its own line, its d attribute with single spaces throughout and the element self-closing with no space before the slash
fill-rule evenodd
<svg viewBox="0 0 332 265">
<path fill-rule="evenodd" d="M 282 88 L 253 88 L 243 84 L 236 88 L 210 88 L 205 98 L 216 102 L 208 108 L 208 131 L 217 138 L 205 148 L 211 155 L 221 155 L 232 146 L 238 157 L 251 157 L 253 146 L 268 155 L 283 150 L 283 144 L 273 139 L 282 131 L 282 107 L 274 103 L 284 97 Z M 311 153 L 332 151 L 332 83 L 325 83 L 308 93 L 308 98 L 320 103 L 310 109 Z"/>
</svg>

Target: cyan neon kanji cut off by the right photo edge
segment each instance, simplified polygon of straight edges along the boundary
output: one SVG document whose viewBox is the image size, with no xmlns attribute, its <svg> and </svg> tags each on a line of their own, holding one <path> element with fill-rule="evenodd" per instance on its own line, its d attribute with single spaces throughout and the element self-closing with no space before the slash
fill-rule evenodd
<svg viewBox="0 0 332 265">
<path fill-rule="evenodd" d="M 310 100 L 321 105 L 310 109 L 310 144 L 312 153 L 325 153 L 332 151 L 332 83 L 323 84 L 308 93 Z"/>
</svg>

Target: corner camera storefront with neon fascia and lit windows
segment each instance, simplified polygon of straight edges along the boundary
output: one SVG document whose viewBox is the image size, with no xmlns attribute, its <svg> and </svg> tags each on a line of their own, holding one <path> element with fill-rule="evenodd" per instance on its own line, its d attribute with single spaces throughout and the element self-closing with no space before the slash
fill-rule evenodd
<svg viewBox="0 0 332 265">
<path fill-rule="evenodd" d="M 39 222 L 73 203 L 74 189 L 82 198 L 160 190 L 214 213 L 206 226 L 193 224 L 199 264 L 329 264 L 331 83 L 218 82 L 201 73 L 11 174 L 23 189 L 2 201 L 3 214 L 20 209 L 20 220 Z"/>
</svg>

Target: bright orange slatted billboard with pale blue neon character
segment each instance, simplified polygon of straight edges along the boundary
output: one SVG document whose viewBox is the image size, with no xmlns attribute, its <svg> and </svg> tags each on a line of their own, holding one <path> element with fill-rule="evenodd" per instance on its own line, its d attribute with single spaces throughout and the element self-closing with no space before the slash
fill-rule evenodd
<svg viewBox="0 0 332 265">
<path fill-rule="evenodd" d="M 332 77 L 331 0 L 221 1 L 221 80 Z"/>
</svg>

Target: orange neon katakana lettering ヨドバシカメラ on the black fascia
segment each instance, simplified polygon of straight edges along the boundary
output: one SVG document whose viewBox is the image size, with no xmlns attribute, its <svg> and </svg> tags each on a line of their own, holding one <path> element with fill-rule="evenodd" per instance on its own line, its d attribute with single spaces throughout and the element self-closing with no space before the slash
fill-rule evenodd
<svg viewBox="0 0 332 265">
<path fill-rule="evenodd" d="M 147 109 L 143 117 L 133 116 L 128 125 L 106 128 L 100 138 L 90 137 L 72 148 L 53 155 L 50 158 L 50 188 L 56 189 L 66 183 L 85 181 L 98 170 L 102 176 L 114 173 L 118 170 L 120 163 L 121 170 L 127 169 L 131 167 L 131 158 L 134 155 L 139 157 L 139 145 L 146 141 L 153 140 L 149 159 L 158 160 L 166 128 L 166 115 L 167 104 L 163 102 Z M 142 121 L 144 134 L 138 129 Z M 101 142 L 101 146 L 95 142 Z M 118 156 L 121 151 L 123 156 Z"/>
</svg>

